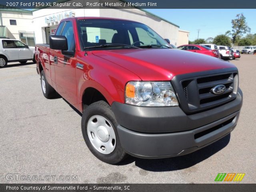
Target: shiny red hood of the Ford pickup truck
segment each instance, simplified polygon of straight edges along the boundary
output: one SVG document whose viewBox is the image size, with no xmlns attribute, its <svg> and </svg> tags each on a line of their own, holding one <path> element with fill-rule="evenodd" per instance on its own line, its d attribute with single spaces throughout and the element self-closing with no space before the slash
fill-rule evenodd
<svg viewBox="0 0 256 192">
<path fill-rule="evenodd" d="M 130 70 L 144 81 L 171 80 L 179 74 L 235 67 L 212 56 L 177 49 L 96 50 L 92 54 Z"/>
</svg>

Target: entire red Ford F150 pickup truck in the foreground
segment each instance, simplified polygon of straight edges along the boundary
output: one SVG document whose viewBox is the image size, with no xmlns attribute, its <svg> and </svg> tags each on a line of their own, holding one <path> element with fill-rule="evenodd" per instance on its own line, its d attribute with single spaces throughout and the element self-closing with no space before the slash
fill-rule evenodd
<svg viewBox="0 0 256 192">
<path fill-rule="evenodd" d="M 82 113 L 88 148 L 110 164 L 188 154 L 238 122 L 238 69 L 173 49 L 139 22 L 64 19 L 35 58 L 44 96 L 58 92 Z"/>
</svg>

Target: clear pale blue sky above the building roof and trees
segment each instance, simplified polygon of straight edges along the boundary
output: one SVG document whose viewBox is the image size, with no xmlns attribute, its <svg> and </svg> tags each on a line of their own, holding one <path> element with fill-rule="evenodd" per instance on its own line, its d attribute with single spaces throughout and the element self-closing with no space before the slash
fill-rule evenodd
<svg viewBox="0 0 256 192">
<path fill-rule="evenodd" d="M 256 9 L 147 9 L 174 24 L 180 26 L 181 30 L 190 32 L 189 40 L 199 38 L 214 38 L 232 30 L 231 20 L 236 14 L 243 13 L 246 22 L 251 28 L 251 33 L 256 33 Z"/>
</svg>

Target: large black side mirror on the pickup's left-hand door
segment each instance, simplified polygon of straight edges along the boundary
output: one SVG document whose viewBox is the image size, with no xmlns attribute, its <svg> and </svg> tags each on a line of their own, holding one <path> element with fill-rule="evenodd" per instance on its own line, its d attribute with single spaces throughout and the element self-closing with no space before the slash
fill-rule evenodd
<svg viewBox="0 0 256 192">
<path fill-rule="evenodd" d="M 68 41 L 65 36 L 51 35 L 49 38 L 50 48 L 55 50 L 68 50 Z"/>
</svg>

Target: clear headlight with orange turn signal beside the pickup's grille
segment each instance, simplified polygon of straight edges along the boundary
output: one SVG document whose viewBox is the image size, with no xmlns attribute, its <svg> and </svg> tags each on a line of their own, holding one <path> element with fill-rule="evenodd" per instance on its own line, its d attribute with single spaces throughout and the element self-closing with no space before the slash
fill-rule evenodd
<svg viewBox="0 0 256 192">
<path fill-rule="evenodd" d="M 125 87 L 125 102 L 137 106 L 179 105 L 170 82 L 128 82 Z"/>
</svg>

